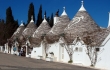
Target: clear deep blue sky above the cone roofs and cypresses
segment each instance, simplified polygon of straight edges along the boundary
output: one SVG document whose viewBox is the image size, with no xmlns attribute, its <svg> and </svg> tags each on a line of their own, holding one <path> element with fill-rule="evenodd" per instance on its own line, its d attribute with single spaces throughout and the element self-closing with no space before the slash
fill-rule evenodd
<svg viewBox="0 0 110 70">
<path fill-rule="evenodd" d="M 59 15 L 63 12 L 63 7 L 66 7 L 66 13 L 72 19 L 81 7 L 82 0 L 0 0 L 0 18 L 6 18 L 6 9 L 10 6 L 15 20 L 27 22 L 29 4 L 32 2 L 35 9 L 35 19 L 40 5 L 42 10 L 46 11 L 46 16 L 55 15 L 59 9 Z M 110 11 L 110 0 L 83 0 L 86 11 L 90 14 L 93 20 L 101 27 L 108 26 Z"/>
</svg>

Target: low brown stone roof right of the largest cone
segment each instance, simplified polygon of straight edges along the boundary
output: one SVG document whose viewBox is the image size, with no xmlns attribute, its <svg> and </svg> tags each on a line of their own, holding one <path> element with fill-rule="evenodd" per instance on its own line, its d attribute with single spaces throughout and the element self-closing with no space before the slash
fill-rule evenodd
<svg viewBox="0 0 110 70">
<path fill-rule="evenodd" d="M 105 28 L 103 28 L 103 29 L 101 28 L 101 29 L 96 30 L 94 32 L 87 33 L 87 35 L 86 34 L 83 35 L 82 39 L 85 42 L 85 44 L 86 44 L 87 41 L 85 41 L 84 38 L 85 37 L 87 38 L 88 36 L 90 38 L 90 41 L 92 42 L 91 45 L 100 47 L 102 42 L 106 38 L 106 29 Z"/>
</svg>

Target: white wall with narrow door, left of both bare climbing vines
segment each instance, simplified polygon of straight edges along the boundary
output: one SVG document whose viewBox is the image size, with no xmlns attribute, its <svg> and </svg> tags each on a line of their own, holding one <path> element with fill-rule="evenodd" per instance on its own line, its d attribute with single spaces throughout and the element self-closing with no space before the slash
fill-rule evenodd
<svg viewBox="0 0 110 70">
<path fill-rule="evenodd" d="M 59 42 L 55 42 L 53 44 L 50 44 L 50 48 L 48 53 L 53 52 L 54 53 L 54 60 L 57 62 L 68 62 L 69 56 L 64 47 L 62 47 Z"/>
</svg>

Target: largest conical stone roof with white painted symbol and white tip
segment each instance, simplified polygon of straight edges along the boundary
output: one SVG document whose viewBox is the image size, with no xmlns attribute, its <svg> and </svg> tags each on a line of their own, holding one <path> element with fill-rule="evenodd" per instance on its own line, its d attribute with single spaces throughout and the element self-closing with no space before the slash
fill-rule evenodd
<svg viewBox="0 0 110 70">
<path fill-rule="evenodd" d="M 100 29 L 92 17 L 83 7 L 83 4 L 69 25 L 64 29 L 65 34 L 71 34 L 72 38 L 83 36 L 86 32 L 94 32 Z"/>
</svg>

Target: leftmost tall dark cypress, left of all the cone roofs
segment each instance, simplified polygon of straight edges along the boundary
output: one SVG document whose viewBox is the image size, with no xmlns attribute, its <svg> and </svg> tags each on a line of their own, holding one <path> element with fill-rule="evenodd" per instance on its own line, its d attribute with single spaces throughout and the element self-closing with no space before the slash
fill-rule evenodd
<svg viewBox="0 0 110 70">
<path fill-rule="evenodd" d="M 4 40 L 7 41 L 12 34 L 15 32 L 15 30 L 18 28 L 18 20 L 14 20 L 12 15 L 11 7 L 8 7 L 6 9 L 6 24 L 4 27 Z"/>
</svg>

